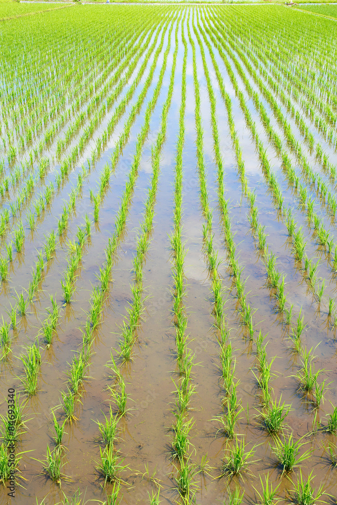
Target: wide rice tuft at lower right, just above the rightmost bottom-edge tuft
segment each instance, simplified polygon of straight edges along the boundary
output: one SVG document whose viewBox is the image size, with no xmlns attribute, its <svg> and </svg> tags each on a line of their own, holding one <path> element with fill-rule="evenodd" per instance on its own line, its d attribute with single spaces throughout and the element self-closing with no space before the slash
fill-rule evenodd
<svg viewBox="0 0 337 505">
<path fill-rule="evenodd" d="M 271 449 L 276 456 L 278 464 L 282 467 L 283 473 L 289 473 L 294 468 L 300 465 L 303 461 L 310 458 L 313 449 L 310 448 L 305 451 L 302 455 L 299 455 L 302 447 L 306 445 L 307 442 L 302 442 L 303 437 L 297 442 L 293 441 L 293 434 L 289 435 L 287 439 L 282 442 L 278 438 L 274 438 L 275 446 L 271 446 Z"/>
</svg>

